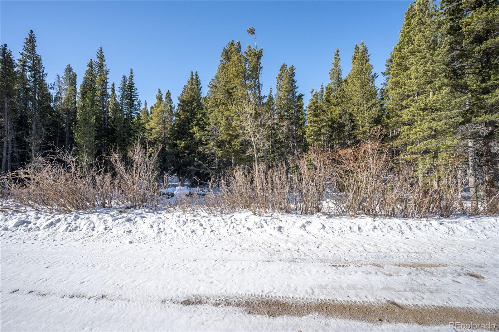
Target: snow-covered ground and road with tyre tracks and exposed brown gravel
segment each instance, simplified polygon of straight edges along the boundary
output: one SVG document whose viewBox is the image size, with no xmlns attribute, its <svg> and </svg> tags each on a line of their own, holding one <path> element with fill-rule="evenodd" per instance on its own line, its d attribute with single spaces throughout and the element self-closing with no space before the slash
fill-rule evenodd
<svg viewBox="0 0 499 332">
<path fill-rule="evenodd" d="M 497 217 L 6 212 L 0 330 L 499 326 L 498 234 Z"/>
</svg>

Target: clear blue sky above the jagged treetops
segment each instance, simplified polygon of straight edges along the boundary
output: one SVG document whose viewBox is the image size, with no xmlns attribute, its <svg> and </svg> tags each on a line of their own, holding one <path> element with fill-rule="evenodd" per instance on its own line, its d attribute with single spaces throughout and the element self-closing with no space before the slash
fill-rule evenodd
<svg viewBox="0 0 499 332">
<path fill-rule="evenodd" d="M 263 48 L 264 92 L 280 65 L 296 67 L 306 103 L 312 87 L 327 84 L 339 47 L 343 75 L 355 43 L 364 40 L 382 82 L 410 1 L 0 1 L 0 41 L 16 59 L 33 29 L 48 81 L 71 64 L 78 84 L 102 44 L 110 82 L 133 68 L 139 98 L 154 103 L 157 89 L 178 96 L 197 70 L 203 93 L 232 39 Z M 176 99 L 175 99 L 176 101 Z"/>
</svg>

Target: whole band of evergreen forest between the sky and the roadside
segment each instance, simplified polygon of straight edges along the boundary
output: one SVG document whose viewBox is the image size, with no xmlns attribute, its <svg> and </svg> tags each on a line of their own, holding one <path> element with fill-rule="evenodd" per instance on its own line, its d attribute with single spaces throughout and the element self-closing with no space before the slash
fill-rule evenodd
<svg viewBox="0 0 499 332">
<path fill-rule="evenodd" d="M 321 176 L 326 168 L 334 173 L 337 191 L 350 188 L 351 196 L 361 197 L 357 210 L 367 214 L 369 202 L 379 201 L 387 185 L 393 193 L 407 184 L 431 197 L 425 208 L 418 205 L 423 199 L 412 203 L 418 211 L 445 210 L 442 204 L 451 199 L 468 213 L 498 213 L 498 1 L 414 1 L 381 87 L 368 45 L 359 41 L 351 59 L 341 59 L 339 49 L 331 55 L 330 80 L 310 91 L 306 107 L 308 97 L 298 92 L 295 79 L 299 68 L 292 64 L 269 68 L 276 72 L 275 84 L 263 86 L 263 49 L 255 28 L 247 32 L 254 44 L 231 40 L 223 47 L 206 93 L 198 73 L 186 73 L 177 101 L 160 87 L 149 105 L 138 99 L 132 69 L 120 82 L 109 82 L 102 46 L 84 73 L 68 64 L 50 83 L 32 30 L 17 57 L 1 45 L 2 186 L 40 158 L 65 153 L 87 169 L 112 164 L 111 155 L 115 167 L 120 158 L 131 163 L 141 146 L 146 154 L 153 151 L 158 181 L 164 174 L 192 185 L 230 176 L 236 181 L 234 174 L 246 169 L 252 175 L 240 176 L 248 176 L 248 190 L 256 190 L 257 178 L 265 182 L 272 173 L 285 180 L 299 172 L 303 179 L 310 166 Z M 346 75 L 342 61 L 351 61 Z M 77 75 L 83 75 L 79 86 Z M 320 168 L 321 158 L 332 166 Z"/>
</svg>

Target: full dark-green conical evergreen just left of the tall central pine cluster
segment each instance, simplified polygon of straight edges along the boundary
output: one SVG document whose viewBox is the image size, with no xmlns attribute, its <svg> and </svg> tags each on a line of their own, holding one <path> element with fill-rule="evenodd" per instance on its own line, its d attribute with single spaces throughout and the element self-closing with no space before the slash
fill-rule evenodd
<svg viewBox="0 0 499 332">
<path fill-rule="evenodd" d="M 175 170 L 177 173 L 185 174 L 192 182 L 196 175 L 200 175 L 197 163 L 202 162 L 202 154 L 200 136 L 197 134 L 205 130 L 206 116 L 198 72 L 193 74 L 191 71 L 191 76 L 178 99 L 173 127 L 177 160 Z"/>
</svg>

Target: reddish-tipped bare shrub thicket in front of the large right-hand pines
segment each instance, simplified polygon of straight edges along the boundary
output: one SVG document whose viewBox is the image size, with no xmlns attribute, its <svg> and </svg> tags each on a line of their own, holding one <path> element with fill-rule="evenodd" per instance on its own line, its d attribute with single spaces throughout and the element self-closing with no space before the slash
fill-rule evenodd
<svg viewBox="0 0 499 332">
<path fill-rule="evenodd" d="M 448 217 L 458 208 L 465 185 L 459 159 L 450 158 L 447 165 L 420 165 L 416 171 L 411 162 L 396 162 L 390 146 L 380 139 L 340 150 L 334 159 L 330 199 L 338 215 Z"/>
</svg>

